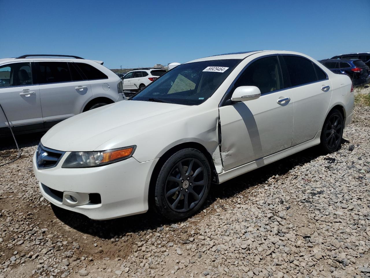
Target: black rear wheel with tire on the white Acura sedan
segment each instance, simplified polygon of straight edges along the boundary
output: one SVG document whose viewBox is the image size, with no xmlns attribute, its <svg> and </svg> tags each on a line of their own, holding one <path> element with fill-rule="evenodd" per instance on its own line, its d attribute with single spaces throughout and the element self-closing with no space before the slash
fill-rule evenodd
<svg viewBox="0 0 370 278">
<path fill-rule="evenodd" d="M 339 149 L 343 136 L 343 116 L 338 110 L 333 110 L 326 117 L 321 131 L 321 148 L 326 153 Z"/>
</svg>

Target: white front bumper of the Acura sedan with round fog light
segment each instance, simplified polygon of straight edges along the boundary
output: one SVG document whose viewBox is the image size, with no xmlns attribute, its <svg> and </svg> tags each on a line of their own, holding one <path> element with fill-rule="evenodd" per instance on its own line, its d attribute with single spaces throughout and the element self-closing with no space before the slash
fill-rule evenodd
<svg viewBox="0 0 370 278">
<path fill-rule="evenodd" d="M 149 182 L 158 159 L 138 162 L 131 157 L 100 167 L 61 168 L 68 155 L 66 152 L 59 163 L 49 169 L 37 169 L 36 153 L 33 156 L 33 171 L 42 195 L 49 202 L 96 220 L 148 210 Z M 101 199 L 90 202 L 89 196 L 93 195 L 100 195 Z M 71 201 L 71 196 L 77 198 L 77 202 Z"/>
</svg>

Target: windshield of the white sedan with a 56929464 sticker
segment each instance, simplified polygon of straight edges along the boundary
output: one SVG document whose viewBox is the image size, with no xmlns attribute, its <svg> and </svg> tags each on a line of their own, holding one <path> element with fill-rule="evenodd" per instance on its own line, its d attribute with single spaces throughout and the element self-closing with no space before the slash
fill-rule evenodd
<svg viewBox="0 0 370 278">
<path fill-rule="evenodd" d="M 133 100 L 199 105 L 228 77 L 240 59 L 181 64 L 132 97 Z"/>
</svg>

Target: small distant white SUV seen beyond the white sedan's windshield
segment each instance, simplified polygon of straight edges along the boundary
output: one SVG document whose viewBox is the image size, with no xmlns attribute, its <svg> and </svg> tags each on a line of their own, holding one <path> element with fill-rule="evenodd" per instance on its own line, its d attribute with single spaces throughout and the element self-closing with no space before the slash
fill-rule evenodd
<svg viewBox="0 0 370 278">
<path fill-rule="evenodd" d="M 124 90 L 139 90 L 141 91 L 150 83 L 152 83 L 159 76 L 166 73 L 162 69 L 137 69 L 131 70 L 124 77 L 123 80 L 123 89 Z"/>
</svg>

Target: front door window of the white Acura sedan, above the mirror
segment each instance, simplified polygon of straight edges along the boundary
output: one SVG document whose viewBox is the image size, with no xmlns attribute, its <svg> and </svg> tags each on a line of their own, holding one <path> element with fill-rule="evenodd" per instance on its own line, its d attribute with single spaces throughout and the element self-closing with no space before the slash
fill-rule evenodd
<svg viewBox="0 0 370 278">
<path fill-rule="evenodd" d="M 261 94 L 283 89 L 277 56 L 261 58 L 250 64 L 235 82 L 235 88 L 240 86 L 256 86 Z"/>
</svg>

